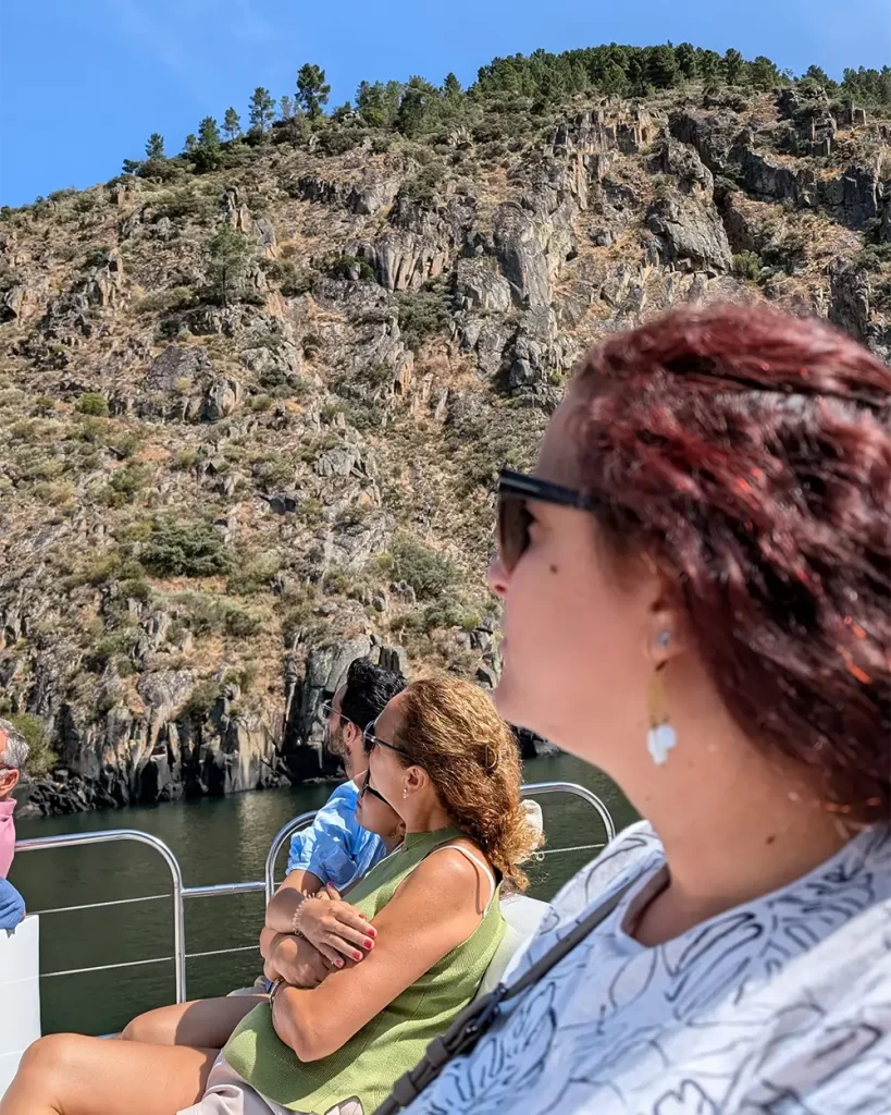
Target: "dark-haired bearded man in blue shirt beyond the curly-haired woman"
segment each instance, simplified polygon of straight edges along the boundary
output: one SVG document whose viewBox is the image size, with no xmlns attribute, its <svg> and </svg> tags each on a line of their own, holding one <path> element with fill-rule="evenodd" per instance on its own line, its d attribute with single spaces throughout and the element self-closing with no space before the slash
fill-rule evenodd
<svg viewBox="0 0 891 1115">
<path fill-rule="evenodd" d="M 343 891 L 384 856 L 386 849 L 380 836 L 366 832 L 355 820 L 359 787 L 354 779 L 368 766 L 364 729 L 404 686 L 404 678 L 393 670 L 358 658 L 345 683 L 322 706 L 325 747 L 343 760 L 349 780 L 337 786 L 309 828 L 291 837 L 287 878 L 266 908 L 267 929 L 292 932 L 301 894 L 314 894 L 329 884 Z"/>
</svg>

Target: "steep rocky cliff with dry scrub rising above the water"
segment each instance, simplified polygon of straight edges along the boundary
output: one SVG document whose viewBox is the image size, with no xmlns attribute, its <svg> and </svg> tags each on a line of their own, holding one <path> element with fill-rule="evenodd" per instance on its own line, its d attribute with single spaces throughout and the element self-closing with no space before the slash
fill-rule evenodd
<svg viewBox="0 0 891 1115">
<path fill-rule="evenodd" d="M 498 467 L 681 301 L 891 348 L 891 127 L 695 81 L 282 125 L 0 213 L 0 687 L 45 811 L 325 773 L 359 653 L 497 678 Z"/>
</svg>

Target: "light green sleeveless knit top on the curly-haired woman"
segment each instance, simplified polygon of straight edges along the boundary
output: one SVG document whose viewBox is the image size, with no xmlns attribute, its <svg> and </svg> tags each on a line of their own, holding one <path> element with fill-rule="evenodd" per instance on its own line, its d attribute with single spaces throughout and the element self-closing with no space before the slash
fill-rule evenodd
<svg viewBox="0 0 891 1115">
<path fill-rule="evenodd" d="M 440 828 L 410 833 L 398 852 L 381 860 L 350 891 L 352 905 L 369 920 L 386 905 L 418 864 L 462 833 Z M 346 1099 L 359 1099 L 370 1115 L 403 1073 L 413 1068 L 430 1041 L 477 993 L 505 933 L 500 888 L 473 933 L 389 1007 L 366 1022 L 336 1053 L 303 1063 L 280 1040 L 267 1004 L 255 1007 L 235 1029 L 223 1057 L 261 1095 L 296 1112 L 324 1115 Z"/>
</svg>

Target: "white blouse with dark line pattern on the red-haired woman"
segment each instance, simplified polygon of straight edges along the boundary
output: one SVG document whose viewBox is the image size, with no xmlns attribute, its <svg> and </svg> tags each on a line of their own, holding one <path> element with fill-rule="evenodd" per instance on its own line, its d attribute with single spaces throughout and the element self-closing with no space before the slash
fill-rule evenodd
<svg viewBox="0 0 891 1115">
<path fill-rule="evenodd" d="M 515 978 L 633 885 L 411 1115 L 891 1112 L 891 832 L 865 830 L 790 886 L 645 948 L 626 927 L 666 870 L 640 823 L 580 871 Z"/>
</svg>

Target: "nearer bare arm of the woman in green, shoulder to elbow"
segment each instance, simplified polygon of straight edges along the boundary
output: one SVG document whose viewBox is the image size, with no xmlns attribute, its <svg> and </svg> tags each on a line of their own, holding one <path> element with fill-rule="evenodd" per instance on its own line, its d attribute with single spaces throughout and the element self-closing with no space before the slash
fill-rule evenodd
<svg viewBox="0 0 891 1115">
<path fill-rule="evenodd" d="M 421 863 L 374 919 L 374 949 L 311 991 L 283 987 L 273 1024 L 301 1060 L 327 1057 L 405 988 L 466 941 L 489 900 L 489 879 L 460 852 Z"/>
</svg>

